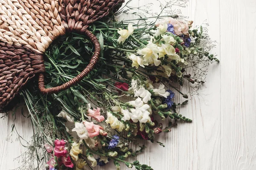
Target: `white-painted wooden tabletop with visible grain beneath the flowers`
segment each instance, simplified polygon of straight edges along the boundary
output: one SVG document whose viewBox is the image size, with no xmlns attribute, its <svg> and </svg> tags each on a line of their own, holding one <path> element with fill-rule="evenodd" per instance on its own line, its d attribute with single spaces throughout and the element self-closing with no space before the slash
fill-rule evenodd
<svg viewBox="0 0 256 170">
<path fill-rule="evenodd" d="M 156 4 L 134 0 L 133 6 L 148 2 Z M 161 134 L 165 148 L 146 142 L 137 159 L 154 170 L 256 170 L 256 0 L 191 0 L 182 11 L 195 24 L 207 20 L 209 34 L 218 41 L 212 52 L 221 62 L 209 67 L 200 94 L 189 96 L 180 109 L 193 123 Z M 0 119 L 1 170 L 17 168 L 20 163 L 13 159 L 25 151 L 15 134 L 9 136 L 12 124 L 12 116 Z M 30 138 L 29 119 L 17 114 L 15 125 Z"/>
</svg>

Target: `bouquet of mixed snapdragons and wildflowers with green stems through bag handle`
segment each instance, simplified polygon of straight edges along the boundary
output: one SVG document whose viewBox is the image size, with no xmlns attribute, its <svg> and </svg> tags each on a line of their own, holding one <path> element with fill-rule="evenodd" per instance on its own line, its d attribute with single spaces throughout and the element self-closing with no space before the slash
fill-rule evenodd
<svg viewBox="0 0 256 170">
<path fill-rule="evenodd" d="M 122 12 L 128 11 L 121 8 L 116 14 Z M 99 39 L 101 58 L 79 85 L 42 95 L 35 82 L 21 92 L 34 136 L 20 169 L 29 164 L 38 170 L 93 170 L 113 162 L 117 170 L 120 163 L 152 170 L 137 160 L 126 161 L 145 148 L 132 150 L 131 143 L 149 140 L 164 146 L 156 135 L 170 132 L 179 121 L 192 122 L 177 113 L 188 102 L 179 86 L 186 83 L 195 94 L 204 84 L 204 68 L 218 62 L 209 54 L 214 45 L 203 26 L 193 28 L 192 24 L 177 14 L 126 21 L 117 21 L 113 15 L 94 23 L 90 31 Z M 75 77 L 88 64 L 92 51 L 90 40 L 79 34 L 52 43 L 45 53 L 46 87 Z M 183 100 L 175 103 L 175 95 Z M 169 125 L 160 123 L 165 119 Z"/>
</svg>

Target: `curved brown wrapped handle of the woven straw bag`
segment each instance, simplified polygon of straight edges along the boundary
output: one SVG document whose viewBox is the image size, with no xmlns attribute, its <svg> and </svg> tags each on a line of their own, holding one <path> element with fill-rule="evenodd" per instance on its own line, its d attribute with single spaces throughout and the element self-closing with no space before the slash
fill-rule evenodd
<svg viewBox="0 0 256 170">
<path fill-rule="evenodd" d="M 93 42 L 93 45 L 94 45 L 94 48 L 95 48 L 93 57 L 91 58 L 89 64 L 75 78 L 73 78 L 70 81 L 64 83 L 63 85 L 53 87 L 53 88 L 45 88 L 44 87 L 44 74 L 39 74 L 38 87 L 39 87 L 39 90 L 41 91 L 41 93 L 43 93 L 43 94 L 55 94 L 55 93 L 58 93 L 60 91 L 67 90 L 68 88 L 70 88 L 70 87 L 76 85 L 77 83 L 79 83 L 84 77 L 86 77 L 89 74 L 90 71 L 93 70 L 93 67 L 95 66 L 96 62 L 99 59 L 100 45 L 99 45 L 98 39 L 95 37 L 95 35 L 93 33 L 91 33 L 88 30 L 85 30 L 84 34 L 87 37 L 90 38 L 90 40 Z"/>
</svg>

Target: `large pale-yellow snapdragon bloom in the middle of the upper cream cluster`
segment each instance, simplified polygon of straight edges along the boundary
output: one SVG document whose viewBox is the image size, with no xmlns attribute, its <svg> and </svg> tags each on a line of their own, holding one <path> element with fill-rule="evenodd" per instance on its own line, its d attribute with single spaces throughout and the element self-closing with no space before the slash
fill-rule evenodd
<svg viewBox="0 0 256 170">
<path fill-rule="evenodd" d="M 139 49 L 137 52 L 143 56 L 143 65 L 160 65 L 161 61 L 158 59 L 159 49 L 153 42 L 149 41 L 145 48 Z"/>
</svg>

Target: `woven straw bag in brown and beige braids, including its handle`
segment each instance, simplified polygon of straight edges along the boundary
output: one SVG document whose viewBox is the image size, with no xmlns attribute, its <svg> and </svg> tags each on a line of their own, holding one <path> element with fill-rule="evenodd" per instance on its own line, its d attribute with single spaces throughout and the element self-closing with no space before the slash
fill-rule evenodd
<svg viewBox="0 0 256 170">
<path fill-rule="evenodd" d="M 97 38 L 87 30 L 124 0 L 0 0 L 0 109 L 3 110 L 39 75 L 39 89 L 53 94 L 76 85 L 93 69 L 100 54 Z M 95 51 L 77 77 L 61 86 L 44 87 L 44 52 L 67 32 L 87 35 Z"/>
</svg>

